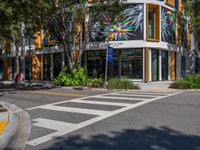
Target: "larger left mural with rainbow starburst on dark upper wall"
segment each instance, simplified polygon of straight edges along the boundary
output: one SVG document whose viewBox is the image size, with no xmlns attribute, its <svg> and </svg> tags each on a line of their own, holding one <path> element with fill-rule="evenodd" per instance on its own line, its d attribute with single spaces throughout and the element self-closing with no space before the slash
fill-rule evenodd
<svg viewBox="0 0 200 150">
<path fill-rule="evenodd" d="M 92 23 L 90 41 L 105 41 L 109 33 L 112 41 L 142 40 L 143 39 L 143 5 L 127 5 L 114 20 L 108 14 L 102 13 L 98 22 Z"/>
</svg>

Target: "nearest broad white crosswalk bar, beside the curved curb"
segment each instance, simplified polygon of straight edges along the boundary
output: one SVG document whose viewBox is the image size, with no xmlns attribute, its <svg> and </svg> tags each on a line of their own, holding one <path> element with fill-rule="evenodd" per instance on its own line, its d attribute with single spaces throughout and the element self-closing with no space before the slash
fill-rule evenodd
<svg viewBox="0 0 200 150">
<path fill-rule="evenodd" d="M 37 122 L 37 123 L 32 124 L 34 126 L 43 127 L 43 128 L 45 127 L 47 129 L 57 130 L 57 131 L 69 130 L 69 128 L 75 125 L 73 123 L 67 123 L 67 122 L 44 119 L 44 118 L 37 118 L 37 119 L 33 119 L 32 121 Z"/>
</svg>

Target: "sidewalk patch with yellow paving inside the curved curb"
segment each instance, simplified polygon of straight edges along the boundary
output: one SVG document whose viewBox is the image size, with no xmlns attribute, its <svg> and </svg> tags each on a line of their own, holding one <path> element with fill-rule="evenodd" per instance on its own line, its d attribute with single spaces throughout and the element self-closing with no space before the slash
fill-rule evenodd
<svg viewBox="0 0 200 150">
<path fill-rule="evenodd" d="M 6 127 L 9 123 L 9 113 L 7 108 L 0 104 L 0 137 L 5 133 Z"/>
</svg>

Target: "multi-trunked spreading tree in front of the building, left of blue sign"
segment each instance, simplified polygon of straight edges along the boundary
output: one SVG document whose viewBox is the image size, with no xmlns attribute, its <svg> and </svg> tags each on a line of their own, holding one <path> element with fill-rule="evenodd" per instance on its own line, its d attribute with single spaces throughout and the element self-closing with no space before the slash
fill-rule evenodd
<svg viewBox="0 0 200 150">
<path fill-rule="evenodd" d="M 59 41 L 68 70 L 72 73 L 74 65 L 81 66 L 82 55 L 89 42 L 91 21 L 99 19 L 102 11 L 109 11 L 111 17 L 115 16 L 121 7 L 120 0 L 101 0 L 93 4 L 88 4 L 88 0 L 54 0 L 49 2 L 48 8 L 43 26 Z M 91 8 L 92 18 L 88 17 Z"/>
</svg>

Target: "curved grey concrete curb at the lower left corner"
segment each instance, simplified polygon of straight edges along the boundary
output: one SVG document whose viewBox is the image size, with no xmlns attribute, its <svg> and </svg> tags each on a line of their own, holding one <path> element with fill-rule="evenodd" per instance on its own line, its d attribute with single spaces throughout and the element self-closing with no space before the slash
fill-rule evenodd
<svg viewBox="0 0 200 150">
<path fill-rule="evenodd" d="M 9 123 L 0 138 L 0 149 L 23 150 L 31 131 L 31 120 L 27 112 L 6 102 L 0 102 L 9 113 Z"/>
</svg>

